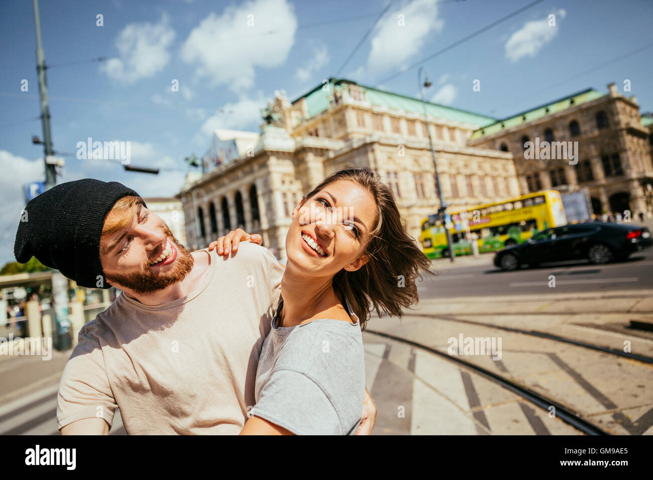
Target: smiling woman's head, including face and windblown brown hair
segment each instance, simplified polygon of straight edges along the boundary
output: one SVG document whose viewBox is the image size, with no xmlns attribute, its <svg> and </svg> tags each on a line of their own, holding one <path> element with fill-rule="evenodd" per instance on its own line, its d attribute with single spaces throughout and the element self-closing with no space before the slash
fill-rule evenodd
<svg viewBox="0 0 653 480">
<path fill-rule="evenodd" d="M 323 227 L 336 223 L 342 224 L 342 233 L 346 235 L 340 244 L 340 237 Z M 327 246 L 325 238 L 331 234 L 336 241 Z M 332 283 L 351 304 L 363 329 L 370 318 L 370 306 L 379 316 L 385 312 L 401 317 L 404 308 L 417 302 L 415 280 L 422 273 L 430 273 L 430 261 L 402 225 L 392 191 L 368 168 L 340 170 L 302 199 L 293 211 L 293 223 L 286 238 L 291 268 L 297 244 L 312 251 L 315 257 L 324 258 L 319 266 L 323 272 L 325 263 L 331 264 L 327 270 L 333 270 Z M 316 254 L 314 245 L 325 255 Z M 356 260 L 340 265 L 342 257 L 336 256 L 350 247 Z M 332 259 L 325 258 L 330 256 L 330 249 Z M 295 261 L 295 265 L 303 263 L 301 259 Z M 304 268 L 313 268 L 314 275 L 317 265 Z"/>
</svg>

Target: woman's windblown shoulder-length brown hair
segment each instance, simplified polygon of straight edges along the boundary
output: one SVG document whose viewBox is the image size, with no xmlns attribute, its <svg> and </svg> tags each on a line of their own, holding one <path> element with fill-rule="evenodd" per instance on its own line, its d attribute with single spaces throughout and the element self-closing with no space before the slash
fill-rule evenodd
<svg viewBox="0 0 653 480">
<path fill-rule="evenodd" d="M 340 270 L 333 278 L 334 288 L 349 300 L 364 330 L 370 312 L 376 310 L 379 317 L 381 312 L 401 317 L 403 308 L 417 302 L 415 281 L 422 279 L 422 272 L 432 273 L 431 262 L 407 234 L 392 190 L 370 168 L 345 168 L 331 174 L 302 199 L 302 204 L 338 180 L 366 189 L 377 206 L 374 227 L 361 254 L 370 260 L 355 272 Z"/>
</svg>

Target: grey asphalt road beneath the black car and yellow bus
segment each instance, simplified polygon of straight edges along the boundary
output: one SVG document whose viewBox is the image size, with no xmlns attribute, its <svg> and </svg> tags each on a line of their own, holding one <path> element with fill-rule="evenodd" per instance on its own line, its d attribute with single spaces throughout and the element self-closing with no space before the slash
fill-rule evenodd
<svg viewBox="0 0 653 480">
<path fill-rule="evenodd" d="M 587 262 L 545 264 L 503 272 L 494 266 L 494 255 L 454 262 L 437 261 L 438 276 L 419 284 L 420 298 L 455 296 L 548 295 L 550 293 L 596 293 L 629 289 L 653 289 L 653 249 L 632 255 L 628 261 L 606 265 Z M 556 287 L 549 287 L 554 275 Z"/>
</svg>

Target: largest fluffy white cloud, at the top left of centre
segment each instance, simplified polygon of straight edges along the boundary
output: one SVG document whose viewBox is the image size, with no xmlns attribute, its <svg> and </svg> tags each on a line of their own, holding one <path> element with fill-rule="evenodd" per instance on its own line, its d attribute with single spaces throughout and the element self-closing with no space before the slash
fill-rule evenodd
<svg viewBox="0 0 653 480">
<path fill-rule="evenodd" d="M 182 59 L 214 86 L 249 89 L 255 67 L 277 67 L 287 59 L 297 29 L 293 10 L 286 0 L 253 0 L 229 6 L 221 15 L 211 13 L 185 40 Z"/>
</svg>

